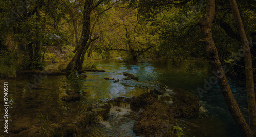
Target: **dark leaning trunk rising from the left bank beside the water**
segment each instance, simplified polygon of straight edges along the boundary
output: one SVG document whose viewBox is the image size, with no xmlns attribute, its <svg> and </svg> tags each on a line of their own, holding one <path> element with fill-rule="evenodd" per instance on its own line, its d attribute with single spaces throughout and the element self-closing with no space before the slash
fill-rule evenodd
<svg viewBox="0 0 256 137">
<path fill-rule="evenodd" d="M 72 58 L 72 60 L 69 62 L 68 66 L 66 67 L 66 71 L 71 70 L 72 67 L 74 67 L 76 70 L 79 69 L 79 66 L 81 66 L 81 57 L 82 53 L 87 45 L 89 36 L 90 36 L 90 28 L 91 28 L 91 11 L 93 0 L 86 0 L 86 3 L 84 4 L 84 11 L 83 11 L 83 26 L 82 26 L 82 35 L 80 38 L 80 44 L 77 45 L 78 49 L 76 51 L 75 56 Z"/>
</svg>

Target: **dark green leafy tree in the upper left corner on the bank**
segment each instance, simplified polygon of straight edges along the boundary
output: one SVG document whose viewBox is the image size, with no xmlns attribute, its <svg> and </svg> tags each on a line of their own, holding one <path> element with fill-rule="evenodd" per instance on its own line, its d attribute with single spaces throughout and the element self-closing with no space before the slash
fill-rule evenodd
<svg viewBox="0 0 256 137">
<path fill-rule="evenodd" d="M 9 34 L 2 34 L 17 45 L 18 64 L 23 69 L 44 69 L 42 43 L 56 34 L 62 13 L 59 1 L 5 1 L 4 26 Z M 53 12 L 54 11 L 54 12 Z"/>
</svg>

